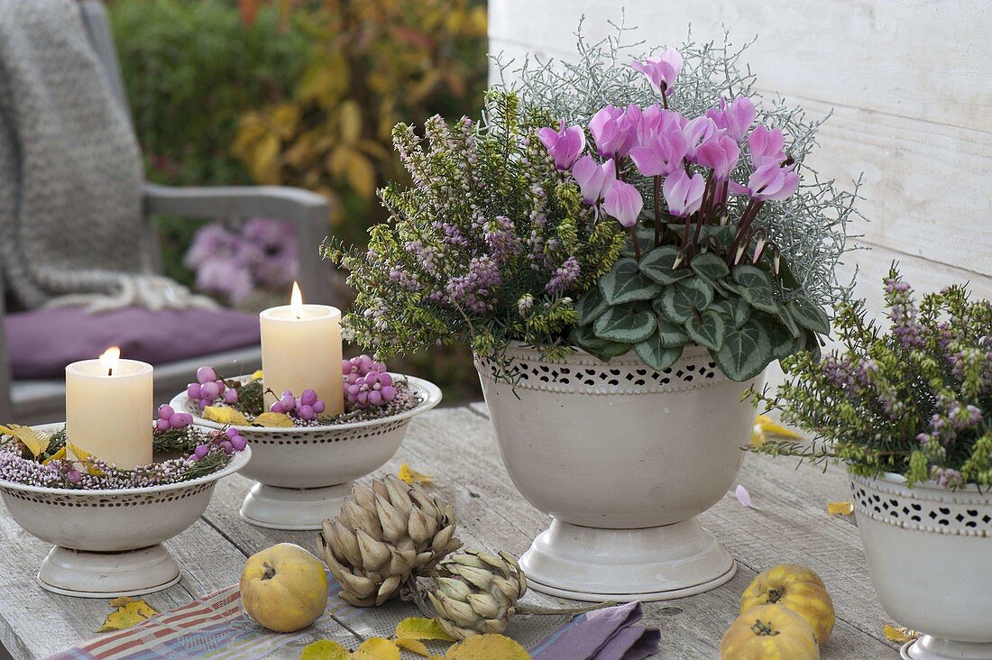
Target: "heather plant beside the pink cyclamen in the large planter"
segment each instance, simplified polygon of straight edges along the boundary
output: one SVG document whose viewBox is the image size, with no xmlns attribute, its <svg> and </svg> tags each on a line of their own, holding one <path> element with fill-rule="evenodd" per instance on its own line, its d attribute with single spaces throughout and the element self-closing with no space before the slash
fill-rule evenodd
<svg viewBox="0 0 992 660">
<path fill-rule="evenodd" d="M 538 132 L 551 118 L 513 93 L 487 97 L 486 120 L 399 124 L 393 141 L 414 186 L 381 191 L 389 223 L 367 250 L 324 246 L 357 291 L 345 318 L 380 356 L 434 343 L 498 352 L 519 339 L 567 349 L 574 301 L 616 260 L 619 225 L 598 222 Z"/>
</svg>

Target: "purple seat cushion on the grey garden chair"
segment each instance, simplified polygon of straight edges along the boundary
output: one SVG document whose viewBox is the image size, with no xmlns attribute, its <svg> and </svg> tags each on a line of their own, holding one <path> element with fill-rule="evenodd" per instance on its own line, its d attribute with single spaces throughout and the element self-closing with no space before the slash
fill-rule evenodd
<svg viewBox="0 0 992 660">
<path fill-rule="evenodd" d="M 259 343 L 258 317 L 233 310 L 86 314 L 65 307 L 8 314 L 4 328 L 15 379 L 62 378 L 66 364 L 107 346 L 120 346 L 122 357 L 164 364 Z"/>
</svg>

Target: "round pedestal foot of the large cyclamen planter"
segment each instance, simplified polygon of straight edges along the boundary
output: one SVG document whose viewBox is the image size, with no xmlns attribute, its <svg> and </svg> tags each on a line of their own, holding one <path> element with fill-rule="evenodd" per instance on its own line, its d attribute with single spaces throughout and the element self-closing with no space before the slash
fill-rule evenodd
<svg viewBox="0 0 992 660">
<path fill-rule="evenodd" d="M 668 600 L 728 582 L 737 565 L 695 518 L 601 529 L 555 520 L 520 559 L 528 586 L 575 600 Z"/>
</svg>

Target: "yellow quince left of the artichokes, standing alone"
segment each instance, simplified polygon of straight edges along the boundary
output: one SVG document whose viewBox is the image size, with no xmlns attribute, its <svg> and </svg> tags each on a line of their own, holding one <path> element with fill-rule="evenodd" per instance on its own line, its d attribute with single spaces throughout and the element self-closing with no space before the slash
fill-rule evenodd
<svg viewBox="0 0 992 660">
<path fill-rule="evenodd" d="M 323 564 L 292 543 L 256 553 L 241 573 L 241 604 L 252 620 L 270 630 L 302 630 L 327 606 Z"/>
</svg>

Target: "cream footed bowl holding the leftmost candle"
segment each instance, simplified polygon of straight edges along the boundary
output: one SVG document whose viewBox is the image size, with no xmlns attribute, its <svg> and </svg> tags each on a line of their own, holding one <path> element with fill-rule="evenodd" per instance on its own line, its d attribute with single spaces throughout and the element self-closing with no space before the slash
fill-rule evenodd
<svg viewBox="0 0 992 660">
<path fill-rule="evenodd" d="M 55 433 L 62 426 L 35 428 Z M 0 480 L 0 495 L 21 527 L 56 545 L 38 573 L 45 590 L 85 598 L 152 594 L 180 581 L 179 566 L 162 543 L 196 522 L 217 480 L 250 458 L 245 449 L 212 474 L 145 488 L 81 490 Z"/>
</svg>

